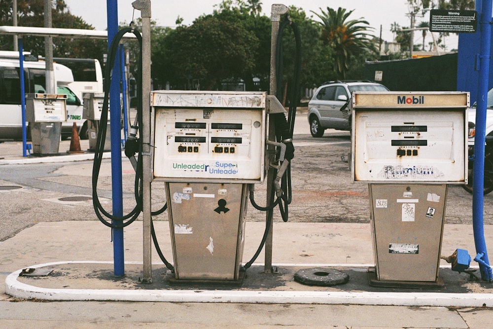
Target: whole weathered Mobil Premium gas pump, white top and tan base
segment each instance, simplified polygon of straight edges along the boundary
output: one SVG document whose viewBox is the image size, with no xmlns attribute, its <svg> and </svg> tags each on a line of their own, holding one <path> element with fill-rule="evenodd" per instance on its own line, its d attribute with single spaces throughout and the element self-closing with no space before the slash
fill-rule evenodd
<svg viewBox="0 0 493 329">
<path fill-rule="evenodd" d="M 370 284 L 443 287 L 447 184 L 467 183 L 466 92 L 354 92 L 352 180 L 369 183 Z"/>
</svg>

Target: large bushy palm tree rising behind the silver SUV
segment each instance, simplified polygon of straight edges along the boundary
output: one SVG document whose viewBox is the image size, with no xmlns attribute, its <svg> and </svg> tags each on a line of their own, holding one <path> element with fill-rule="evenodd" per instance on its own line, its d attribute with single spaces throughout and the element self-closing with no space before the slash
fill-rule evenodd
<svg viewBox="0 0 493 329">
<path fill-rule="evenodd" d="M 320 38 L 334 49 L 334 71 L 337 77 L 345 78 L 353 57 L 365 51 L 378 52 L 375 42 L 368 34 L 372 28 L 362 18 L 347 20 L 354 10 L 346 12 L 346 9 L 339 7 L 335 11 L 327 7 L 327 12 L 322 8 L 320 11 L 321 14 L 312 11 L 321 20 L 318 22 L 322 26 Z"/>
</svg>

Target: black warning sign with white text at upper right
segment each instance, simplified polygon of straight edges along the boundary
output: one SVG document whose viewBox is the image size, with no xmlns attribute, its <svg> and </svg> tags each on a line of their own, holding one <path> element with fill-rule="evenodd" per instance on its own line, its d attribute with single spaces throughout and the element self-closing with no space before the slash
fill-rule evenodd
<svg viewBox="0 0 493 329">
<path fill-rule="evenodd" d="M 475 33 L 477 27 L 478 13 L 475 10 L 430 10 L 431 32 Z"/>
</svg>

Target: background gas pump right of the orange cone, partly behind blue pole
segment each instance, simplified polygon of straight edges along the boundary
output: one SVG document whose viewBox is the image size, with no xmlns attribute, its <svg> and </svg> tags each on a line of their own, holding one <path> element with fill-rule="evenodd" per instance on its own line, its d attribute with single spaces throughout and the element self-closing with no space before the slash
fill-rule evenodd
<svg viewBox="0 0 493 329">
<path fill-rule="evenodd" d="M 83 95 L 84 105 L 82 110 L 82 118 L 87 120 L 87 135 L 89 139 L 89 150 L 91 151 L 96 149 L 104 99 L 105 94 L 102 93 L 84 93 Z M 107 121 L 106 125 L 105 151 L 109 151 L 111 150 L 109 121 Z"/>
</svg>

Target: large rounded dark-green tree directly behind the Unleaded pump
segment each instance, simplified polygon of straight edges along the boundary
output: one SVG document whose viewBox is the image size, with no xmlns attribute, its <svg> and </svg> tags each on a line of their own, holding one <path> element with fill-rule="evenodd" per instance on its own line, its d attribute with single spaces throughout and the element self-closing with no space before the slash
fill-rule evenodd
<svg viewBox="0 0 493 329">
<path fill-rule="evenodd" d="M 258 39 L 238 24 L 212 16 L 179 26 L 164 42 L 165 78 L 183 86 L 188 79 L 200 79 L 201 88 L 220 90 L 221 80 L 241 77 L 254 66 Z"/>
</svg>

